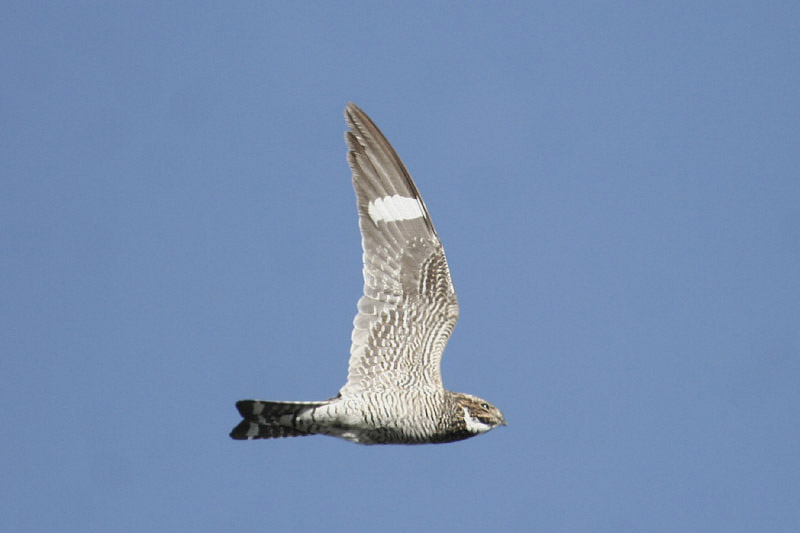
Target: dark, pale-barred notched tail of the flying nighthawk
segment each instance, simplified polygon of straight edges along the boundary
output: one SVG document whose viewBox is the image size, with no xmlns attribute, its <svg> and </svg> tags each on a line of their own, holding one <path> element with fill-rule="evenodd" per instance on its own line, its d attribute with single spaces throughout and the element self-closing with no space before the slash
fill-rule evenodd
<svg viewBox="0 0 800 533">
<path fill-rule="evenodd" d="M 233 428 L 231 438 L 252 440 L 311 435 L 310 432 L 300 427 L 297 419 L 304 412 L 316 409 L 326 403 L 263 402 L 261 400 L 236 402 L 236 408 L 244 420 Z"/>
</svg>

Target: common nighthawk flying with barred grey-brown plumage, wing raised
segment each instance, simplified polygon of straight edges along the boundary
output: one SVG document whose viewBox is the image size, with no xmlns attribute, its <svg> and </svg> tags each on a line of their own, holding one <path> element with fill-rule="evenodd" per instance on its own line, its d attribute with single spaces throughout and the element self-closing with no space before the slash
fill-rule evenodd
<svg viewBox="0 0 800 533">
<path fill-rule="evenodd" d="M 489 402 L 442 386 L 442 352 L 458 320 L 444 249 L 389 141 L 354 104 L 345 118 L 364 250 L 347 383 L 320 402 L 237 402 L 244 420 L 231 437 L 323 434 L 360 444 L 423 444 L 505 425 Z"/>
</svg>

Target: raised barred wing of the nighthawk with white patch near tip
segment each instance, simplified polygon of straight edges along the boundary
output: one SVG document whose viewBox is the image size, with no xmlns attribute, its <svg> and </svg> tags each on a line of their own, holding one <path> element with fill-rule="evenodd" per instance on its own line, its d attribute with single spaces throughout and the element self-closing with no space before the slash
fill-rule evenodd
<svg viewBox="0 0 800 533">
<path fill-rule="evenodd" d="M 389 141 L 347 104 L 364 295 L 353 320 L 344 396 L 386 389 L 442 388 L 441 359 L 458 300 L 428 209 Z"/>
</svg>

